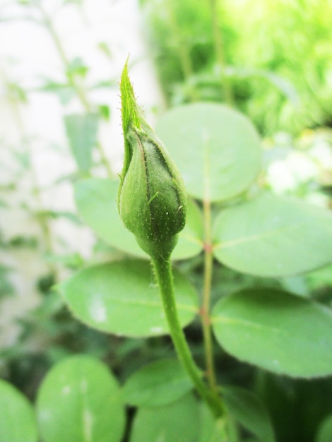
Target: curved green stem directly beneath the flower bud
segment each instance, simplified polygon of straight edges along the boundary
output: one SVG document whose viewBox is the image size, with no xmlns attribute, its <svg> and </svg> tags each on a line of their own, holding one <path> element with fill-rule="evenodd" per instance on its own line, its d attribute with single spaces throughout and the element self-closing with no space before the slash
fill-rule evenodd
<svg viewBox="0 0 332 442">
<path fill-rule="evenodd" d="M 155 269 L 155 275 L 158 280 L 160 294 L 162 297 L 162 304 L 164 307 L 167 323 L 170 328 L 170 334 L 174 343 L 175 350 L 179 360 L 194 383 L 196 390 L 206 401 L 215 417 L 220 417 L 225 414 L 223 403 L 218 395 L 206 386 L 202 380 L 201 370 L 198 369 L 194 362 L 189 346 L 184 337 L 183 330 L 179 323 L 179 316 L 177 314 L 177 306 L 174 297 L 174 285 L 172 278 L 172 268 L 170 260 L 165 260 L 162 257 L 152 259 Z"/>
</svg>

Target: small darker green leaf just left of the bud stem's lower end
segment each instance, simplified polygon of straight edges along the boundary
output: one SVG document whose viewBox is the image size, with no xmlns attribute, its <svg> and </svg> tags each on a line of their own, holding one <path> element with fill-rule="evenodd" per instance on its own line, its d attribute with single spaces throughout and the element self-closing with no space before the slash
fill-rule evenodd
<svg viewBox="0 0 332 442">
<path fill-rule="evenodd" d="M 123 397 L 130 405 L 160 407 L 176 402 L 191 389 L 191 380 L 177 359 L 160 359 L 126 381 Z"/>
</svg>

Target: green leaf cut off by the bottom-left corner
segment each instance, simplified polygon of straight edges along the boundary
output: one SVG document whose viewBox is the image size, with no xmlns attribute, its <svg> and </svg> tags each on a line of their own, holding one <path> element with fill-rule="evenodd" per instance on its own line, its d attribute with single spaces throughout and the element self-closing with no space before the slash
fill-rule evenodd
<svg viewBox="0 0 332 442">
<path fill-rule="evenodd" d="M 37 442 L 32 405 L 20 391 L 0 379 L 0 442 Z"/>
</svg>

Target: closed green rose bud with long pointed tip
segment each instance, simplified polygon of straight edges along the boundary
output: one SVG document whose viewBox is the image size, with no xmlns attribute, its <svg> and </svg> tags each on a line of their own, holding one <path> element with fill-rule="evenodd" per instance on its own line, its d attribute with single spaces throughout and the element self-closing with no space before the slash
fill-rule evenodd
<svg viewBox="0 0 332 442">
<path fill-rule="evenodd" d="M 119 214 L 141 249 L 168 259 L 186 222 L 182 177 L 158 136 L 143 118 L 127 65 L 121 76 L 124 167 L 119 186 Z"/>
</svg>

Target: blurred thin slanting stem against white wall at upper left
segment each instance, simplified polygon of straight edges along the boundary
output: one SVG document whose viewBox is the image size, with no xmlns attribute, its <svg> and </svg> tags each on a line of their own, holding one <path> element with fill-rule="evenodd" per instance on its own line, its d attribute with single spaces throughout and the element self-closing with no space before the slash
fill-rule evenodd
<svg viewBox="0 0 332 442">
<path fill-rule="evenodd" d="M 44 21 L 45 28 L 47 28 L 47 30 L 49 31 L 49 34 L 52 36 L 54 44 L 57 47 L 57 51 L 59 53 L 60 59 L 61 59 L 62 63 L 64 64 L 64 67 L 66 68 L 66 76 L 68 78 L 69 84 L 72 86 L 73 89 L 76 90 L 78 99 L 81 101 L 81 104 L 83 105 L 85 111 L 88 113 L 93 112 L 93 106 L 90 104 L 90 101 L 88 100 L 88 96 L 85 92 L 85 89 L 83 88 L 83 86 L 80 83 L 78 83 L 75 76 L 73 76 L 73 73 L 71 73 L 69 59 L 66 56 L 66 52 L 64 51 L 64 47 L 61 43 L 59 35 L 57 34 L 57 31 L 54 28 L 51 18 L 49 18 L 45 9 L 42 8 L 41 4 L 38 3 L 37 7 L 40 9 L 40 13 L 42 13 L 42 18 Z M 107 161 L 107 157 L 105 155 L 104 148 L 102 147 L 100 141 L 97 141 L 96 147 L 99 151 L 99 155 L 102 160 L 102 164 L 104 165 L 104 167 L 106 169 L 108 177 L 112 177 L 113 173 L 112 173 L 111 168 L 109 167 L 109 162 Z"/>
</svg>

